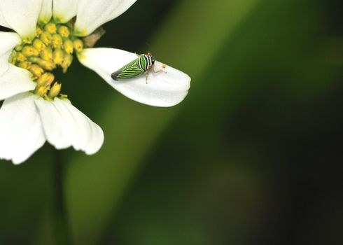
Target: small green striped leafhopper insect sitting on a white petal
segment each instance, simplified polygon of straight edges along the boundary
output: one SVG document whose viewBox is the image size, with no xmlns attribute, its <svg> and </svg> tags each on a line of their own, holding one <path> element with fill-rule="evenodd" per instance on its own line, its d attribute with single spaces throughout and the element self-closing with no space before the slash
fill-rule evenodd
<svg viewBox="0 0 343 245">
<path fill-rule="evenodd" d="M 139 55 L 137 59 L 134 59 L 129 64 L 126 64 L 118 71 L 115 71 L 111 74 L 113 80 L 127 80 L 131 78 L 136 78 L 141 76 L 143 73 L 147 73 L 153 64 L 155 63 L 155 58 L 151 53 L 147 55 Z M 148 77 L 147 77 L 148 78 Z"/>
</svg>

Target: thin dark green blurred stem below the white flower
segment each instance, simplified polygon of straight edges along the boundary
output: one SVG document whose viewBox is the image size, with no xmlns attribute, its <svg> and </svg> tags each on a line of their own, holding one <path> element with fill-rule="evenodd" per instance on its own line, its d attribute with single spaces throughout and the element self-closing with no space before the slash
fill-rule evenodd
<svg viewBox="0 0 343 245">
<path fill-rule="evenodd" d="M 69 245 L 69 225 L 66 217 L 66 209 L 64 202 L 63 192 L 63 174 L 64 166 L 60 151 L 55 150 L 55 159 L 52 166 L 53 176 L 53 209 L 52 209 L 52 222 L 53 222 L 53 235 L 55 245 Z"/>
</svg>

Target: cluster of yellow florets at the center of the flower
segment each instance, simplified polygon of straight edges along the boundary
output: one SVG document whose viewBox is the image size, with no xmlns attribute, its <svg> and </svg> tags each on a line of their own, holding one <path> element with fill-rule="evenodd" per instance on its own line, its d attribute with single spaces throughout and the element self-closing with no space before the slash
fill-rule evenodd
<svg viewBox="0 0 343 245">
<path fill-rule="evenodd" d="M 56 24 L 53 21 L 37 25 L 33 40 L 22 40 L 10 55 L 10 63 L 31 72 L 36 83 L 33 91 L 44 99 L 51 100 L 60 94 L 53 70 L 61 68 L 64 73 L 73 62 L 73 53 L 83 50 L 84 43 L 73 35 L 73 23 Z"/>
</svg>

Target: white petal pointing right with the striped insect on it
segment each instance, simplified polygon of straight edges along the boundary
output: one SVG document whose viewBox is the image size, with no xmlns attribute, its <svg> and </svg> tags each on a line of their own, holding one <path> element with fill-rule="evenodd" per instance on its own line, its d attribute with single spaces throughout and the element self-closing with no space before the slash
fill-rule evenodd
<svg viewBox="0 0 343 245">
<path fill-rule="evenodd" d="M 150 71 L 148 78 L 141 75 L 125 81 L 113 80 L 111 73 L 137 58 L 137 55 L 131 52 L 113 48 L 88 48 L 78 58 L 83 65 L 97 72 L 116 90 L 143 104 L 174 106 L 186 97 L 190 88 L 190 77 L 186 73 L 160 62 L 155 62 L 153 68 L 160 72 Z"/>
</svg>

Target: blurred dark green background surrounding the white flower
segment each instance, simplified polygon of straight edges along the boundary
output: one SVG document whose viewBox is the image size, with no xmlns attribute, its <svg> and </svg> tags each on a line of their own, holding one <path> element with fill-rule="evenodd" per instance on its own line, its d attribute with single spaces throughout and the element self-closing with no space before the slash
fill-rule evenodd
<svg viewBox="0 0 343 245">
<path fill-rule="evenodd" d="M 342 1 L 139 0 L 97 46 L 190 75 L 170 109 L 74 62 L 59 78 L 105 133 L 93 156 L 0 162 L 0 244 L 343 244 Z M 62 244 L 62 241 L 61 241 Z"/>
</svg>

